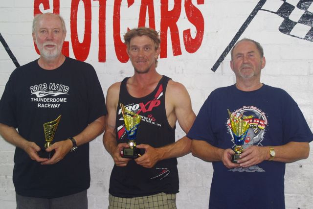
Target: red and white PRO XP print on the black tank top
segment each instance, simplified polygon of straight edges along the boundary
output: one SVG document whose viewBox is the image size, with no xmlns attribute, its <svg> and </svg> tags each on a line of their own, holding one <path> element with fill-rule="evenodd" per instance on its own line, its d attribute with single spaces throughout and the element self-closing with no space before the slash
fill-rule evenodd
<svg viewBox="0 0 313 209">
<path fill-rule="evenodd" d="M 163 86 L 160 85 L 153 100 L 150 100 L 146 103 L 143 102 L 139 102 L 139 103 L 132 103 L 132 104 L 124 104 L 125 108 L 129 111 L 132 111 L 136 114 L 138 114 L 141 117 L 141 121 L 140 123 L 149 123 L 151 125 L 156 125 L 161 127 L 162 124 L 157 122 L 157 117 L 154 116 L 153 114 L 149 114 L 149 112 L 151 112 L 154 108 L 158 107 L 161 104 L 161 101 L 159 100 L 159 98 L 163 96 Z M 147 116 L 142 116 L 141 114 L 146 114 L 148 113 Z M 123 115 L 122 115 L 122 110 L 119 109 L 118 111 L 118 116 L 119 120 L 124 120 L 123 119 Z M 118 139 L 121 139 L 121 137 L 123 137 L 126 133 L 125 131 L 125 126 L 121 125 L 119 127 L 117 127 L 117 134 L 118 134 Z"/>
</svg>

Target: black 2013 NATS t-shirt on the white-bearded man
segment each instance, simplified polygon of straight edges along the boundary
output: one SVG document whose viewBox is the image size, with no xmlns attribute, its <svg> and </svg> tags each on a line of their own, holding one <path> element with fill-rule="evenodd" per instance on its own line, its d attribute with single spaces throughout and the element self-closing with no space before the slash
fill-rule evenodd
<svg viewBox="0 0 313 209">
<path fill-rule="evenodd" d="M 106 114 L 95 70 L 68 57 L 55 70 L 42 69 L 38 60 L 14 70 L 0 100 L 0 123 L 18 128 L 40 147 L 45 144 L 43 124 L 59 115 L 53 142 L 79 134 Z M 89 188 L 89 143 L 53 165 L 33 161 L 17 147 L 14 163 L 13 183 L 22 196 L 56 198 Z"/>
</svg>

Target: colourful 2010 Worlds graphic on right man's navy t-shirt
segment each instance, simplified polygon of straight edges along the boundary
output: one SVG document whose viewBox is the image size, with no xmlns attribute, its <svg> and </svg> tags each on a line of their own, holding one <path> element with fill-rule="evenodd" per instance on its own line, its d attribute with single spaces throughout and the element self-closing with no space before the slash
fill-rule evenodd
<svg viewBox="0 0 313 209">
<path fill-rule="evenodd" d="M 254 106 L 244 106 L 236 111 L 234 115 L 242 116 L 242 118 L 249 123 L 249 129 L 247 131 L 246 139 L 244 142 L 244 149 L 249 146 L 263 146 L 262 141 L 266 133 L 266 128 L 268 126 L 268 119 L 266 114 L 260 109 Z M 231 136 L 231 141 L 233 142 L 233 147 L 235 146 L 234 137 L 231 132 L 231 126 L 229 119 L 227 120 L 227 130 Z M 232 148 L 233 148 L 232 147 Z M 230 171 L 238 172 L 265 172 L 264 169 L 260 168 L 258 165 L 253 165 L 248 168 L 233 168 Z"/>
</svg>

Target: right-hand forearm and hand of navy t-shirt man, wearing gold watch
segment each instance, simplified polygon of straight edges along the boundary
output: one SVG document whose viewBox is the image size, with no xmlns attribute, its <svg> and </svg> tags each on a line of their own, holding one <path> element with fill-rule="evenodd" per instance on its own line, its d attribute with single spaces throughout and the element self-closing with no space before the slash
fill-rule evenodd
<svg viewBox="0 0 313 209">
<path fill-rule="evenodd" d="M 309 157 L 310 146 L 308 142 L 291 141 L 285 145 L 273 146 L 275 158 L 273 161 L 292 163 Z M 240 166 L 249 167 L 269 160 L 269 147 L 251 146 L 241 154 Z"/>
</svg>

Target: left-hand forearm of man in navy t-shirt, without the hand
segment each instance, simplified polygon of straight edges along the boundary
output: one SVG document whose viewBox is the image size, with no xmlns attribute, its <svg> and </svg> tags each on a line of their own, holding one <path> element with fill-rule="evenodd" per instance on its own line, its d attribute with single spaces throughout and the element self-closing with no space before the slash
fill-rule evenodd
<svg viewBox="0 0 313 209">
<path fill-rule="evenodd" d="M 222 161 L 224 149 L 217 148 L 202 140 L 192 140 L 191 153 L 193 156 L 207 162 Z"/>
</svg>

